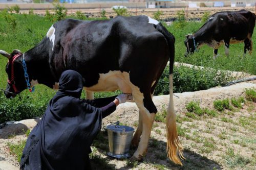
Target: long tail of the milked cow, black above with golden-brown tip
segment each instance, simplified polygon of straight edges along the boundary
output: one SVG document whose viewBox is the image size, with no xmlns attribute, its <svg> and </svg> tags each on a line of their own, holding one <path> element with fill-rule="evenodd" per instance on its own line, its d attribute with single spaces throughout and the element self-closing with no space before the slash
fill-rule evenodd
<svg viewBox="0 0 256 170">
<path fill-rule="evenodd" d="M 166 116 L 166 130 L 167 130 L 167 156 L 176 164 L 182 165 L 179 157 L 185 159 L 183 156 L 183 148 L 178 137 L 176 126 L 176 115 L 174 112 L 174 99 L 173 99 L 173 72 L 174 72 L 174 56 L 175 56 L 175 37 L 169 33 L 161 23 L 158 23 L 156 29 L 161 32 L 169 46 L 169 105 L 167 108 Z M 179 155 L 179 156 L 178 156 Z"/>
</svg>

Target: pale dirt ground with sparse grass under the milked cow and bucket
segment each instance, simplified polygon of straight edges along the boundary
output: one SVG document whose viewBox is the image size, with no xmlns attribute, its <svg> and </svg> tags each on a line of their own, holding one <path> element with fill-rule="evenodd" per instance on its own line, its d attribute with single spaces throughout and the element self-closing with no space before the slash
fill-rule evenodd
<svg viewBox="0 0 256 170">
<path fill-rule="evenodd" d="M 138 126 L 138 108 L 135 103 L 125 103 L 103 120 L 102 130 L 94 141 L 91 155 L 93 169 L 255 169 L 256 164 L 256 103 L 245 101 L 241 109 L 218 112 L 216 117 L 186 116 L 185 106 L 190 101 L 200 102 L 202 108 L 213 109 L 215 100 L 245 96 L 246 88 L 256 88 L 256 81 L 244 82 L 228 87 L 175 93 L 175 111 L 178 132 L 184 147 L 183 166 L 173 164 L 166 157 L 165 123 L 154 122 L 147 155 L 142 162 L 114 159 L 106 155 L 109 151 L 106 125 L 119 120 L 131 127 Z M 158 116 L 164 114 L 169 96 L 154 96 Z M 18 162 L 11 155 L 8 142 L 26 140 L 25 132 L 36 125 L 38 119 L 16 122 L 0 129 L 0 169 L 18 169 Z M 131 150 L 133 154 L 135 150 Z"/>
</svg>

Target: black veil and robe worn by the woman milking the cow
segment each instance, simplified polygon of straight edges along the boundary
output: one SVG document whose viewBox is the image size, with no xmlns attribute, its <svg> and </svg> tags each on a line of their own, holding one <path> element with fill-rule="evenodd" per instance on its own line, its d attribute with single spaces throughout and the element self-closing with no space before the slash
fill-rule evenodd
<svg viewBox="0 0 256 170">
<path fill-rule="evenodd" d="M 21 169 L 90 169 L 90 146 L 101 128 L 102 113 L 80 100 L 82 77 L 64 71 L 59 91 L 40 122 L 30 133 L 20 162 Z"/>
</svg>

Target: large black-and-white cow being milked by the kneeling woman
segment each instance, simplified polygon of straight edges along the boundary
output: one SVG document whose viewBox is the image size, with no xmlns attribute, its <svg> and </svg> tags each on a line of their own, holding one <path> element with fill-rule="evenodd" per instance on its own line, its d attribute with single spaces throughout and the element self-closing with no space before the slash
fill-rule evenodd
<svg viewBox="0 0 256 170">
<path fill-rule="evenodd" d="M 183 158 L 173 104 L 174 43 L 175 37 L 160 22 L 147 16 L 61 20 L 38 45 L 24 54 L 0 51 L 9 59 L 6 90 L 20 93 L 37 83 L 56 88 L 61 72 L 73 69 L 84 78 L 87 91 L 120 89 L 123 93 L 132 93 L 139 108 L 139 125 L 132 140 L 138 149 L 132 159 L 141 160 L 157 113 L 153 92 L 170 60 L 167 152 L 171 160 L 182 164 L 177 156 Z M 26 79 L 24 69 L 27 69 Z M 10 98 L 14 93 L 5 92 L 5 95 Z"/>
</svg>

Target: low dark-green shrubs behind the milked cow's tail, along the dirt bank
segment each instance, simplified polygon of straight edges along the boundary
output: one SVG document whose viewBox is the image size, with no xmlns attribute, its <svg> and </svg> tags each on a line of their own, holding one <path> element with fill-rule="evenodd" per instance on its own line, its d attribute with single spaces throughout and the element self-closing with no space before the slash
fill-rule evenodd
<svg viewBox="0 0 256 170">
<path fill-rule="evenodd" d="M 187 66 L 174 67 L 174 92 L 205 90 L 211 87 L 224 85 L 232 77 L 224 71 L 215 69 Z M 156 86 L 154 95 L 169 94 L 169 66 L 167 65 Z"/>
</svg>

